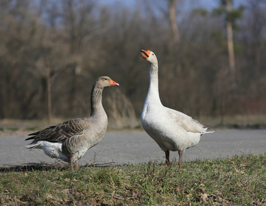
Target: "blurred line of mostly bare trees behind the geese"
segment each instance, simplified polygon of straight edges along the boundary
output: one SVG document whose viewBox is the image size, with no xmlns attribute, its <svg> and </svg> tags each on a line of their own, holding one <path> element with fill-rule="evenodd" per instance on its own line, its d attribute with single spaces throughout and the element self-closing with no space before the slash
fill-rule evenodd
<svg viewBox="0 0 266 206">
<path fill-rule="evenodd" d="M 158 58 L 162 104 L 193 117 L 266 113 L 264 0 L 185 12 L 183 1 L 136 2 L 0 1 L 0 119 L 86 117 L 93 82 L 110 76 L 121 85 L 104 91 L 110 124 L 134 126 L 149 84 L 141 49 Z"/>
</svg>

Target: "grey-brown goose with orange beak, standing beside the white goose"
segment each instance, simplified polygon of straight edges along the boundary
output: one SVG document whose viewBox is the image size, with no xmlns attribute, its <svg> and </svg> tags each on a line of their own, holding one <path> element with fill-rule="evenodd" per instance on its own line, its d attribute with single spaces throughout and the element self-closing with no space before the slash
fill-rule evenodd
<svg viewBox="0 0 266 206">
<path fill-rule="evenodd" d="M 62 159 L 69 163 L 70 170 L 78 168 L 77 161 L 85 152 L 97 145 L 106 133 L 108 119 L 101 104 L 102 91 L 105 87 L 119 86 L 108 76 L 99 77 L 93 84 L 90 95 L 91 113 L 88 118 L 71 119 L 57 126 L 29 134 L 25 140 L 33 139 L 25 146 L 28 149 L 42 149 L 51 158 Z"/>
</svg>

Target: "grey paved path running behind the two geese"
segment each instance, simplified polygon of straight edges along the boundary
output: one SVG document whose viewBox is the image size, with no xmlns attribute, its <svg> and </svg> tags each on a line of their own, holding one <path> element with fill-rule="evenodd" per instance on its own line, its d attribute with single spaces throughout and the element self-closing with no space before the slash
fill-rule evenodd
<svg viewBox="0 0 266 206">
<path fill-rule="evenodd" d="M 43 150 L 27 150 L 25 132 L 0 133 L 0 167 L 28 163 L 55 163 Z M 265 154 L 266 130 L 216 130 L 202 136 L 199 144 L 184 152 L 184 161 L 217 159 L 241 154 Z M 177 159 L 178 152 L 170 152 Z M 82 157 L 86 163 L 142 163 L 165 161 L 165 154 L 145 132 L 107 132 L 106 137 Z"/>
</svg>

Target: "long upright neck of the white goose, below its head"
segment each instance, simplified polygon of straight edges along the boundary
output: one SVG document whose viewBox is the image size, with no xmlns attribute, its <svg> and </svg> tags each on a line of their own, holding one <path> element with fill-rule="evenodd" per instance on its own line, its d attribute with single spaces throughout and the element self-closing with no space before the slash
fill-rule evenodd
<svg viewBox="0 0 266 206">
<path fill-rule="evenodd" d="M 162 105 L 159 95 L 158 65 L 149 65 L 149 91 L 147 93 L 145 104 L 148 102 Z"/>
</svg>

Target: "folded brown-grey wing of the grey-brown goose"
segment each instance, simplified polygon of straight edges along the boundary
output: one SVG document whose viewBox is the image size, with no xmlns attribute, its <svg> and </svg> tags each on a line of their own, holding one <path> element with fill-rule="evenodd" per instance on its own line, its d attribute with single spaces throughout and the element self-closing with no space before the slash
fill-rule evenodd
<svg viewBox="0 0 266 206">
<path fill-rule="evenodd" d="M 49 126 L 36 133 L 31 133 L 25 140 L 45 140 L 45 141 L 58 141 L 64 142 L 73 136 L 80 136 L 84 133 L 84 129 L 88 126 L 88 119 L 71 119 L 66 122 L 62 122 L 57 126 Z"/>
</svg>

